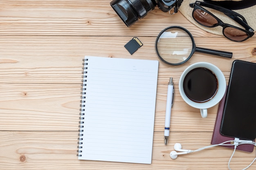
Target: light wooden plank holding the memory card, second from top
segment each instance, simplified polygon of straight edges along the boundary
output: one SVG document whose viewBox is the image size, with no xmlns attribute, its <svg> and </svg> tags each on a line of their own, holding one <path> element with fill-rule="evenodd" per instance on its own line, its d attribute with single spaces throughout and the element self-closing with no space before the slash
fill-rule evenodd
<svg viewBox="0 0 256 170">
<path fill-rule="evenodd" d="M 155 53 L 155 37 L 139 37 L 144 45 L 133 55 L 124 48 L 131 39 L 102 36 L 0 36 L 0 83 L 80 84 L 84 55 L 159 60 Z M 211 38 L 210 42 L 209 38 L 196 38 L 195 42 L 199 47 L 233 52 L 233 59 L 196 52 L 180 66 L 170 66 L 160 61 L 159 84 L 167 84 L 170 76 L 178 84 L 182 71 L 195 62 L 215 64 L 228 81 L 233 60 L 256 61 L 252 54 L 252 44 L 256 44 L 256 38 L 242 44 L 226 38 Z"/>
</svg>

